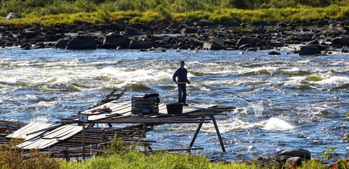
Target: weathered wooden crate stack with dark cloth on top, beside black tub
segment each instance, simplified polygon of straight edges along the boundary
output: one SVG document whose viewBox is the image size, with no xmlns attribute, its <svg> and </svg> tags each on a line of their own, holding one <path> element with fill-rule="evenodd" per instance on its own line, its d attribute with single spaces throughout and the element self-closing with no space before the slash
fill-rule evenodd
<svg viewBox="0 0 349 169">
<path fill-rule="evenodd" d="M 137 96 L 131 98 L 132 110 L 131 113 L 138 115 L 147 115 L 153 113 L 159 113 L 159 97 Z"/>
</svg>

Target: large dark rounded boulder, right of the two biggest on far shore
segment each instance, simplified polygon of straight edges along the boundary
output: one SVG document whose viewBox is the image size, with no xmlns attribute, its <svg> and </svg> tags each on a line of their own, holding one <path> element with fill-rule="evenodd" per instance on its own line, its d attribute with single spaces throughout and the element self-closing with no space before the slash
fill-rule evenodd
<svg viewBox="0 0 349 169">
<path fill-rule="evenodd" d="M 128 48 L 130 39 L 123 34 L 109 34 L 103 40 L 103 48 L 114 49 L 118 46 Z"/>
</svg>

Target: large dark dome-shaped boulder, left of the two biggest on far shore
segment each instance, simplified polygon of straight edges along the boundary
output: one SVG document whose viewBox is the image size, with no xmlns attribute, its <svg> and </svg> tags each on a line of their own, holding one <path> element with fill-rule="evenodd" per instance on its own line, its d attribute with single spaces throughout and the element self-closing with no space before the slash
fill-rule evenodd
<svg viewBox="0 0 349 169">
<path fill-rule="evenodd" d="M 67 50 L 89 50 L 96 49 L 97 43 L 94 36 L 79 34 L 70 40 L 65 49 Z"/>
</svg>

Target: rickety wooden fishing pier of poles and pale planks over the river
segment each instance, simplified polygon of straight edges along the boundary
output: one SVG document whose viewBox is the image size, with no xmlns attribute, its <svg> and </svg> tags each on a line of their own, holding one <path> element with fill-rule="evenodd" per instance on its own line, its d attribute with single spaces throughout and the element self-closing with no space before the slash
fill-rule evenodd
<svg viewBox="0 0 349 169">
<path fill-rule="evenodd" d="M 63 157 L 69 160 L 71 157 L 94 156 L 105 152 L 111 138 L 122 138 L 126 145 L 137 144 L 144 146 L 144 151 L 152 152 L 152 143 L 157 140 L 149 140 L 146 133 L 157 125 L 195 123 L 198 125 L 188 148 L 167 149 L 167 151 L 191 151 L 203 148 L 192 148 L 196 136 L 203 123 L 214 124 L 222 151 L 225 152 L 222 137 L 220 135 L 215 116 L 226 115 L 235 107 L 219 106 L 216 104 L 190 104 L 183 107 L 183 113 L 170 115 L 165 104 L 158 104 L 158 112 L 150 114 L 132 114 L 131 101 L 118 101 L 120 94 L 114 94 L 115 90 L 107 98 L 93 108 L 79 112 L 88 116 L 85 127 L 79 121 L 79 115 L 62 118 L 56 124 L 45 123 L 18 123 L 0 121 L 0 145 L 4 145 L 11 138 L 23 140 L 19 148 L 30 150 L 38 148 L 42 153 L 51 154 L 52 157 Z M 111 100 L 111 97 L 117 97 Z M 104 111 L 105 110 L 105 111 Z M 139 111 L 137 109 L 137 111 Z M 96 127 L 108 126 L 108 127 Z M 124 127 L 116 127 L 116 125 Z M 84 135 L 82 135 L 84 133 Z M 82 144 L 84 142 L 84 144 Z M 83 146 L 85 145 L 85 146 Z M 87 153 L 83 153 L 87 152 Z M 28 151 L 29 154 L 29 151 Z"/>
</svg>

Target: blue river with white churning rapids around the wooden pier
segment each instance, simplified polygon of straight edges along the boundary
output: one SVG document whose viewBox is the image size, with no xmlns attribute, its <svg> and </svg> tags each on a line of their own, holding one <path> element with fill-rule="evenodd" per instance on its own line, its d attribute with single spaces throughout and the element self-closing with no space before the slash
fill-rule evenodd
<svg viewBox="0 0 349 169">
<path fill-rule="evenodd" d="M 121 100 L 150 92 L 163 103 L 177 100 L 172 82 L 179 61 L 186 62 L 187 103 L 236 106 L 217 117 L 223 153 L 213 124 L 204 124 L 194 147 L 212 159 L 248 160 L 303 148 L 322 158 L 328 146 L 347 157 L 341 143 L 349 122 L 349 54 L 328 56 L 270 51 L 21 50 L 0 49 L 0 119 L 54 123 L 86 110 L 113 89 L 129 89 Z M 205 84 L 212 88 L 195 84 Z M 226 90 L 244 97 L 223 92 Z M 262 113 L 260 116 L 259 113 Z M 189 147 L 197 125 L 161 125 L 147 134 L 153 149 Z"/>
</svg>

